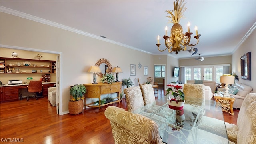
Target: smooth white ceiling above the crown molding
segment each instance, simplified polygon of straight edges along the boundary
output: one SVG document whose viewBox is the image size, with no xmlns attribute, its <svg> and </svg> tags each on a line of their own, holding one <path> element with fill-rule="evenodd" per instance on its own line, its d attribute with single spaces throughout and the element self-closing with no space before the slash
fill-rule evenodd
<svg viewBox="0 0 256 144">
<path fill-rule="evenodd" d="M 184 32 L 190 22 L 190 32 L 198 26 L 201 34 L 198 54 L 201 56 L 231 55 L 256 27 L 256 0 L 186 0 L 185 19 L 180 21 Z M 151 54 L 160 52 L 156 46 L 160 35 L 160 46 L 164 49 L 164 28 L 168 33 L 165 10 L 172 10 L 173 1 L 163 0 L 1 0 L 1 9 L 10 8 L 51 22 L 62 24 L 95 36 L 105 36 L 112 42 L 140 49 Z M 2 10 L 1 10 L 2 11 Z M 194 36 L 193 34 L 193 36 Z M 191 41 L 196 43 L 196 40 Z M 190 48 L 190 47 L 188 47 Z M 176 58 L 192 58 L 187 51 L 172 54 Z"/>
</svg>

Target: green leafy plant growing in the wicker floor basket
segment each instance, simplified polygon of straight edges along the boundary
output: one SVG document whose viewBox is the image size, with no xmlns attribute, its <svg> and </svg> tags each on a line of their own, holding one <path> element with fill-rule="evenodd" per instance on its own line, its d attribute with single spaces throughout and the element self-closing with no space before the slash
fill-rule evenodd
<svg viewBox="0 0 256 144">
<path fill-rule="evenodd" d="M 84 99 L 84 94 L 86 93 L 86 88 L 82 84 L 75 84 L 70 88 L 70 101 L 82 100 Z"/>
</svg>

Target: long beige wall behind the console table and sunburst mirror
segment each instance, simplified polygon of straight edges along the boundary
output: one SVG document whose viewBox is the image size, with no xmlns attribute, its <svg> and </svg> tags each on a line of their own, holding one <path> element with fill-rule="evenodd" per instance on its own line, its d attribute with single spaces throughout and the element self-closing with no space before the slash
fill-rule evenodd
<svg viewBox="0 0 256 144">
<path fill-rule="evenodd" d="M 70 86 L 92 83 L 92 74 L 87 71 L 100 58 L 109 60 L 112 67 L 122 68 L 123 73 L 119 74 L 119 80 L 131 77 L 134 83 L 136 78 L 146 82 L 146 77 L 153 75 L 154 64 L 151 54 L 3 12 L 0 22 L 1 45 L 61 53 L 60 114 L 68 112 Z M 142 65 L 140 69 L 139 63 Z M 130 76 L 130 64 L 136 64 L 136 76 Z M 143 66 L 148 66 L 148 76 L 144 76 Z M 100 78 L 97 78 L 97 81 L 100 82 Z"/>
</svg>

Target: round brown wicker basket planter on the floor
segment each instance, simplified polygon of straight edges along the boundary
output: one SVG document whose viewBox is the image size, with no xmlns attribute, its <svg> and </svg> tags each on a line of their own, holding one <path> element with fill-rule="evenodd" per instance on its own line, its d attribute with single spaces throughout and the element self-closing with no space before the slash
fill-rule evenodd
<svg viewBox="0 0 256 144">
<path fill-rule="evenodd" d="M 80 114 L 84 110 L 83 100 L 69 101 L 68 110 L 70 114 Z"/>
</svg>

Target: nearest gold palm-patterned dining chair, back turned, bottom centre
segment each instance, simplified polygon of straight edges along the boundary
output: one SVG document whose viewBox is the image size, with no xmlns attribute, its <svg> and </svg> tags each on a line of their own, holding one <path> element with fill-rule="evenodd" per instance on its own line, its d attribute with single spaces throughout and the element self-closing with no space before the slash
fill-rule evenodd
<svg viewBox="0 0 256 144">
<path fill-rule="evenodd" d="M 108 106 L 105 116 L 110 120 L 115 144 L 161 144 L 158 125 L 153 120 Z"/>
</svg>

